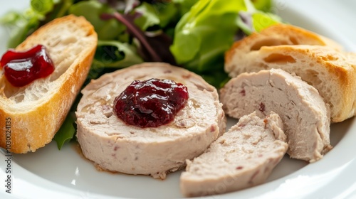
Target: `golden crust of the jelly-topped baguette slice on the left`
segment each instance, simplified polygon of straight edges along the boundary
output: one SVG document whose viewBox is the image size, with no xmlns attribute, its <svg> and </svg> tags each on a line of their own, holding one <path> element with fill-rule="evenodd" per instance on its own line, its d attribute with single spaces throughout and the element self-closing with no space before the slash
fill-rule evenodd
<svg viewBox="0 0 356 199">
<path fill-rule="evenodd" d="M 41 37 L 46 36 L 51 28 L 61 26 L 63 23 L 72 23 L 73 26 L 78 26 L 85 31 L 86 37 L 90 38 L 90 48 L 78 53 L 78 59 L 70 63 L 69 68 L 54 80 L 55 86 L 53 90 L 47 91 L 48 95 L 18 107 L 13 99 L 6 96 L 6 92 L 17 88 L 10 85 L 4 75 L 0 77 L 0 126 L 5 127 L 6 118 L 11 119 L 11 146 L 6 147 L 5 131 L 0 133 L 0 146 L 16 154 L 36 151 L 51 142 L 88 75 L 98 36 L 93 26 L 83 17 L 70 15 L 57 18 L 28 36 L 16 50 L 26 50 L 41 43 Z M 63 53 L 68 52 L 63 51 Z M 51 75 L 46 78 L 51 78 Z M 28 86 L 21 88 L 21 90 L 26 89 Z"/>
</svg>

